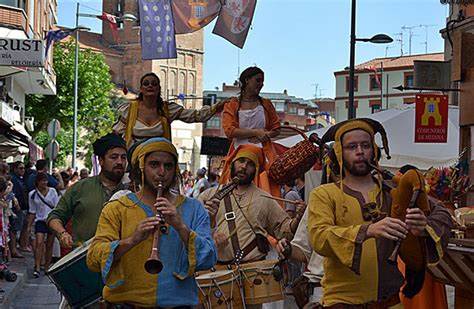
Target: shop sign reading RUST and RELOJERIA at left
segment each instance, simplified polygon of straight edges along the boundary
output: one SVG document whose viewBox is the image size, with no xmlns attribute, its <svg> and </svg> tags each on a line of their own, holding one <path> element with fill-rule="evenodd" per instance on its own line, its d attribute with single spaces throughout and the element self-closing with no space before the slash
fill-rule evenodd
<svg viewBox="0 0 474 309">
<path fill-rule="evenodd" d="M 43 42 L 41 40 L 0 38 L 0 66 L 44 66 Z"/>
</svg>

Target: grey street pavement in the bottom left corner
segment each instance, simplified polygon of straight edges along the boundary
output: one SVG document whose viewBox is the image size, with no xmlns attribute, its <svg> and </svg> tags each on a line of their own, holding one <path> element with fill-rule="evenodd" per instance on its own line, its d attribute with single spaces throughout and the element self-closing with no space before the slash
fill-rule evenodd
<svg viewBox="0 0 474 309">
<path fill-rule="evenodd" d="M 9 269 L 18 273 L 15 283 L 1 281 L 5 299 L 0 308 L 12 309 L 57 309 L 61 296 L 49 278 L 41 271 L 39 278 L 33 277 L 34 259 L 32 253 L 22 253 L 25 259 L 13 259 Z"/>
</svg>

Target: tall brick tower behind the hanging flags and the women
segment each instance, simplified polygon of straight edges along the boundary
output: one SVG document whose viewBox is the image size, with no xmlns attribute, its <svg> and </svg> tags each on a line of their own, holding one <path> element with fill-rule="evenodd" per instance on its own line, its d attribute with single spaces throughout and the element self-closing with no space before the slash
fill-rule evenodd
<svg viewBox="0 0 474 309">
<path fill-rule="evenodd" d="M 116 16 L 128 13 L 139 18 L 137 1 L 110 0 L 102 3 L 103 12 Z M 118 26 L 117 42 L 106 22 L 102 23 L 102 34 L 81 32 L 79 37 L 81 48 L 91 48 L 105 55 L 112 82 L 117 85 L 115 94 L 124 96 L 119 89 L 125 85 L 129 91 L 125 97 L 135 98 L 139 91 L 141 76 L 147 72 L 154 72 L 160 77 L 163 99 L 172 101 L 176 100 L 178 94 L 184 94 L 187 98 L 183 101 L 185 107 L 202 106 L 202 100 L 197 99 L 202 96 L 204 57 L 202 30 L 176 36 L 177 59 L 143 61 L 139 22 L 123 21 L 119 22 Z M 200 156 L 202 127 L 200 123 L 186 124 L 181 121 L 172 124 L 173 144 L 178 149 L 182 169 L 195 171 L 205 165 L 205 158 Z"/>
</svg>

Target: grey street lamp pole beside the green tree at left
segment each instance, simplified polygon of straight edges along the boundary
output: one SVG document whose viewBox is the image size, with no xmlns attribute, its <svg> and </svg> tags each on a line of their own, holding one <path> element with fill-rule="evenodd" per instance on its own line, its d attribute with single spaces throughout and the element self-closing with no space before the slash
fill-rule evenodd
<svg viewBox="0 0 474 309">
<path fill-rule="evenodd" d="M 84 14 L 79 13 L 79 2 L 77 3 L 76 7 L 76 27 L 74 28 L 76 31 L 76 52 L 75 52 L 75 59 L 74 59 L 74 124 L 73 124 L 73 133 L 72 133 L 72 168 L 76 168 L 76 156 L 77 156 L 77 99 L 78 99 L 78 75 L 79 75 L 79 31 L 90 31 L 90 28 L 79 26 L 79 17 L 93 17 L 93 18 L 100 18 L 101 15 L 94 15 L 94 14 Z M 126 13 L 122 16 L 116 17 L 117 21 L 137 21 L 138 18 L 135 15 Z"/>
</svg>

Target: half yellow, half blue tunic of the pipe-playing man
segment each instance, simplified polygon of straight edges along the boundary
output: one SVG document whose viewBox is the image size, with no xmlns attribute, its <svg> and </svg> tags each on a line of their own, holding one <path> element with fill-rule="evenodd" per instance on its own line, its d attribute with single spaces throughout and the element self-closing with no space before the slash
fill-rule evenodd
<svg viewBox="0 0 474 309">
<path fill-rule="evenodd" d="M 87 254 L 87 265 L 92 271 L 102 273 L 105 300 L 142 307 L 193 306 L 198 303 L 194 272 L 211 268 L 217 255 L 204 207 L 195 199 L 178 197 L 178 201 L 178 212 L 191 230 L 189 242 L 184 244 L 172 227 L 168 235 L 160 236 L 163 270 L 157 275 L 144 269 L 153 235 L 113 262 L 119 240 L 130 237 L 139 222 L 153 216 L 151 208 L 133 193 L 104 207 Z"/>
</svg>

